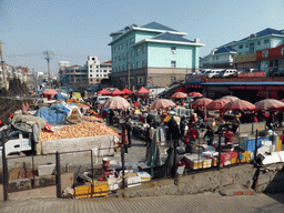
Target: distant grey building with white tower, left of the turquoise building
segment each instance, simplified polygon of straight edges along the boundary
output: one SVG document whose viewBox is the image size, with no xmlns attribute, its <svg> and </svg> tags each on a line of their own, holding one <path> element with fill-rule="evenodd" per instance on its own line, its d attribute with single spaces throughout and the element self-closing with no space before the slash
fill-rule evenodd
<svg viewBox="0 0 284 213">
<path fill-rule="evenodd" d="M 88 57 L 88 61 L 83 67 L 62 67 L 62 64 L 68 63 L 59 64 L 60 82 L 63 85 L 80 87 L 100 83 L 102 79 L 109 79 L 111 73 L 111 61 L 101 63 L 98 57 L 92 55 Z"/>
</svg>

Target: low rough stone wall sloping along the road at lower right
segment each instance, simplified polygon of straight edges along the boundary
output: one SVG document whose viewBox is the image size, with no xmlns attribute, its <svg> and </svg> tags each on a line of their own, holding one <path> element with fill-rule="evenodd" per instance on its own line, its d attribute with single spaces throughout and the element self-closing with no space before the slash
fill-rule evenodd
<svg viewBox="0 0 284 213">
<path fill-rule="evenodd" d="M 281 165 L 282 168 L 283 165 Z M 219 192 L 226 186 L 241 185 L 251 189 L 256 169 L 252 164 L 221 171 L 210 171 L 173 179 L 142 183 L 140 186 L 120 190 L 115 196 L 159 196 Z M 284 170 L 261 171 L 256 192 L 284 192 Z"/>
</svg>

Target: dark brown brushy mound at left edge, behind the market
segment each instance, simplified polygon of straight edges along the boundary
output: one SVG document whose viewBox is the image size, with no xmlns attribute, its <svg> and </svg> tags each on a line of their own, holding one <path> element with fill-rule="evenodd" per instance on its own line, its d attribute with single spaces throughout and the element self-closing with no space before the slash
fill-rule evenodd
<svg viewBox="0 0 284 213">
<path fill-rule="evenodd" d="M 10 113 L 21 110 L 27 102 L 31 103 L 31 93 L 27 84 L 16 78 L 10 80 L 9 89 L 0 90 L 0 121 L 7 123 Z"/>
</svg>

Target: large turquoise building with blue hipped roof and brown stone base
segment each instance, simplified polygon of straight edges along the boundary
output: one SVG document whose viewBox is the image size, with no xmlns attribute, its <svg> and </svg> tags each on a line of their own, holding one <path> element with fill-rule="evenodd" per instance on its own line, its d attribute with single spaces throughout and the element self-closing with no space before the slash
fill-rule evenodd
<svg viewBox="0 0 284 213">
<path fill-rule="evenodd" d="M 185 39 L 186 34 L 156 22 L 111 33 L 113 84 L 164 87 L 197 71 L 199 49 L 204 44 Z"/>
</svg>

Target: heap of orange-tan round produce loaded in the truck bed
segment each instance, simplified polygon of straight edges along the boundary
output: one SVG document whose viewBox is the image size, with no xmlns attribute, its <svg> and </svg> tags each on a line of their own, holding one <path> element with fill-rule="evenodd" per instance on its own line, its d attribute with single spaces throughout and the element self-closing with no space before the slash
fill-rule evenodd
<svg viewBox="0 0 284 213">
<path fill-rule="evenodd" d="M 88 138 L 100 135 L 115 135 L 118 132 L 102 123 L 83 122 L 74 125 L 64 126 L 55 132 L 42 131 L 40 133 L 41 141 L 50 141 L 58 139 Z"/>
</svg>

